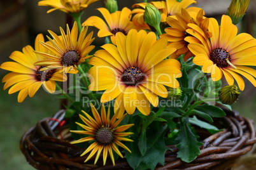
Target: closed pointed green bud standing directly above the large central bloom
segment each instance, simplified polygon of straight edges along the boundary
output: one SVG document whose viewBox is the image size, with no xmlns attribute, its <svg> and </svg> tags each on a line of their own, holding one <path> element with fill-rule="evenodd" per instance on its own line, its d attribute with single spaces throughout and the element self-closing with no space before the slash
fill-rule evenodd
<svg viewBox="0 0 256 170">
<path fill-rule="evenodd" d="M 159 24 L 161 22 L 161 14 L 160 11 L 155 8 L 152 4 L 146 4 L 145 12 L 144 12 L 144 21 L 151 25 L 156 30 L 159 29 Z"/>
</svg>

